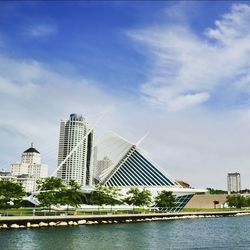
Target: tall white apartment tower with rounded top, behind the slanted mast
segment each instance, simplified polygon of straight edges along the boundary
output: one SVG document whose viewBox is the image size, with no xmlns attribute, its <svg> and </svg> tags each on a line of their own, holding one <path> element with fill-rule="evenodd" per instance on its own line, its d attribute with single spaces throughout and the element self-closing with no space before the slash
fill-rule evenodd
<svg viewBox="0 0 250 250">
<path fill-rule="evenodd" d="M 66 183 L 75 180 L 82 187 L 92 185 L 95 133 L 88 132 L 88 124 L 81 115 L 71 114 L 69 119 L 61 121 L 58 166 L 78 145 L 57 171 L 57 177 Z"/>
</svg>

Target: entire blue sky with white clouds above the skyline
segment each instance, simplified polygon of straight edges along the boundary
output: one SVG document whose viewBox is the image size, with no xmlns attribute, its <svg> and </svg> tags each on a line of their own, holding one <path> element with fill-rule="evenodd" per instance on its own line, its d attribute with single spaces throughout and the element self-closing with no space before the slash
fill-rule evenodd
<svg viewBox="0 0 250 250">
<path fill-rule="evenodd" d="M 60 120 L 79 113 L 97 141 L 148 134 L 193 187 L 239 172 L 250 188 L 249 23 L 250 1 L 0 2 L 0 169 L 34 142 L 52 173 Z"/>
</svg>

